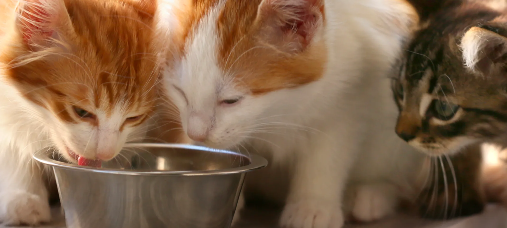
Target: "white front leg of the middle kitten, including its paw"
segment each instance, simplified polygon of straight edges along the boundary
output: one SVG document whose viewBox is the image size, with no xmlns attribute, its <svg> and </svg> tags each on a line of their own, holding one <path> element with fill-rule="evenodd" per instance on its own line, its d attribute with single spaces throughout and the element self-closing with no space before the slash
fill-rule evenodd
<svg viewBox="0 0 507 228">
<path fill-rule="evenodd" d="M 302 150 L 280 218 L 282 227 L 343 226 L 342 195 L 357 146 L 352 135 L 319 135 Z"/>
</svg>

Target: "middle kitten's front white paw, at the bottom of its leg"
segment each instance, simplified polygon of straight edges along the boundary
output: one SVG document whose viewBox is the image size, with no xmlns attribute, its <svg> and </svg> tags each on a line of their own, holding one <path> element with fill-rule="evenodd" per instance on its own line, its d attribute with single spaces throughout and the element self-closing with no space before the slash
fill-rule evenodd
<svg viewBox="0 0 507 228">
<path fill-rule="evenodd" d="M 280 217 L 283 228 L 341 228 L 343 223 L 341 207 L 325 201 L 287 203 Z"/>
</svg>

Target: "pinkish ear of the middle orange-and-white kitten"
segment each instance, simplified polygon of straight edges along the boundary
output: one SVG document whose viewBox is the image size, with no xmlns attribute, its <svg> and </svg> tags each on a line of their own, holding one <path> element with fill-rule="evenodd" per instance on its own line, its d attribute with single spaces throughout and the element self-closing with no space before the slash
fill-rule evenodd
<svg viewBox="0 0 507 228">
<path fill-rule="evenodd" d="M 286 53 L 304 51 L 322 29 L 323 0 L 263 0 L 256 24 L 260 39 Z"/>
</svg>

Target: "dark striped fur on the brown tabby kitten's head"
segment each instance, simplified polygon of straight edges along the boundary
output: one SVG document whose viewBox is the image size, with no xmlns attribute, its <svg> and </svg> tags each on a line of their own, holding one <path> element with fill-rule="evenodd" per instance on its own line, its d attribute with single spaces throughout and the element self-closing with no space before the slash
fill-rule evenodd
<svg viewBox="0 0 507 228">
<path fill-rule="evenodd" d="M 431 155 L 502 140 L 507 130 L 507 20 L 480 3 L 453 1 L 444 9 L 415 34 L 393 87 L 401 111 L 396 132 Z M 438 101 L 459 108 L 439 118 Z"/>
</svg>

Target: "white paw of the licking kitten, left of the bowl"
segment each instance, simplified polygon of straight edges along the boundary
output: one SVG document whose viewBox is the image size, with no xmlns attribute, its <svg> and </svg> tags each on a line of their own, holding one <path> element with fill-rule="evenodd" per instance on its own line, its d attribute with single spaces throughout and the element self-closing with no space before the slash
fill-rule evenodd
<svg viewBox="0 0 507 228">
<path fill-rule="evenodd" d="M 0 220 L 6 225 L 39 225 L 51 220 L 47 199 L 27 192 L 8 192 L 0 196 Z"/>
</svg>

